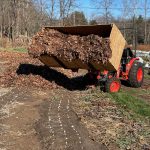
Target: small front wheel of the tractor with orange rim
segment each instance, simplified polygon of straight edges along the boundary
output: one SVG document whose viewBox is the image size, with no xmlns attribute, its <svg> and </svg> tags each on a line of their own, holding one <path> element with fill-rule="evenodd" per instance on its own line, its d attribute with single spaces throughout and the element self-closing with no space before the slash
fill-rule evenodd
<svg viewBox="0 0 150 150">
<path fill-rule="evenodd" d="M 108 79 L 105 83 L 106 92 L 109 93 L 119 92 L 120 88 L 121 88 L 120 80 L 115 77 Z"/>
</svg>

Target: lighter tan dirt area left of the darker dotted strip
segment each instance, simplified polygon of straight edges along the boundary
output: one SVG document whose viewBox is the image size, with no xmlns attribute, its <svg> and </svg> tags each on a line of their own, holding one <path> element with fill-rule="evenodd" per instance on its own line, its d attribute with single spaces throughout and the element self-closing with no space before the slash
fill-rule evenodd
<svg viewBox="0 0 150 150">
<path fill-rule="evenodd" d="M 18 88 L 0 97 L 0 149 L 40 149 L 33 125 L 38 119 L 35 106 L 41 102 Z"/>
</svg>

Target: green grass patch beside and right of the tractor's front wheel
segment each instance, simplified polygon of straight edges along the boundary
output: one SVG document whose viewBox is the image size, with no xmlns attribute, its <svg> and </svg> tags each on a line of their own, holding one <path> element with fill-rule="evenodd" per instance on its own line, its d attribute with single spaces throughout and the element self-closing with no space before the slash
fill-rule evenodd
<svg viewBox="0 0 150 150">
<path fill-rule="evenodd" d="M 109 97 L 131 114 L 150 118 L 150 104 L 144 100 L 124 92 L 112 93 Z"/>
</svg>

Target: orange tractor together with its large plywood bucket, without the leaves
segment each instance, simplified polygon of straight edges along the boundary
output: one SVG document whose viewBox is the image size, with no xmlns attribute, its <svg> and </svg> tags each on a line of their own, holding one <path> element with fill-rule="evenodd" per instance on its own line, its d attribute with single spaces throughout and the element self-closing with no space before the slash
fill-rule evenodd
<svg viewBox="0 0 150 150">
<path fill-rule="evenodd" d="M 55 29 L 64 34 L 87 36 L 96 34 L 110 39 L 112 57 L 107 64 L 94 62 L 88 64 L 81 60 L 66 61 L 64 58 L 41 55 L 40 60 L 49 67 L 63 67 L 65 69 L 88 70 L 89 80 L 96 80 L 104 85 L 107 92 L 118 92 L 121 88 L 120 80 L 126 80 L 132 87 L 140 87 L 143 83 L 143 65 L 136 58 L 130 48 L 125 48 L 127 43 L 115 24 L 75 27 L 45 27 L 44 30 Z"/>
</svg>

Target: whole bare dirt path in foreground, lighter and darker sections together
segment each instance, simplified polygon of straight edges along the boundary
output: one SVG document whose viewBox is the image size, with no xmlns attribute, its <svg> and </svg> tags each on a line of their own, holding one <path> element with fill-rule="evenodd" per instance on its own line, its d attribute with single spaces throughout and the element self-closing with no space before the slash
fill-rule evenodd
<svg viewBox="0 0 150 150">
<path fill-rule="evenodd" d="M 100 150 L 72 110 L 75 92 L 0 90 L 0 149 Z"/>
</svg>

